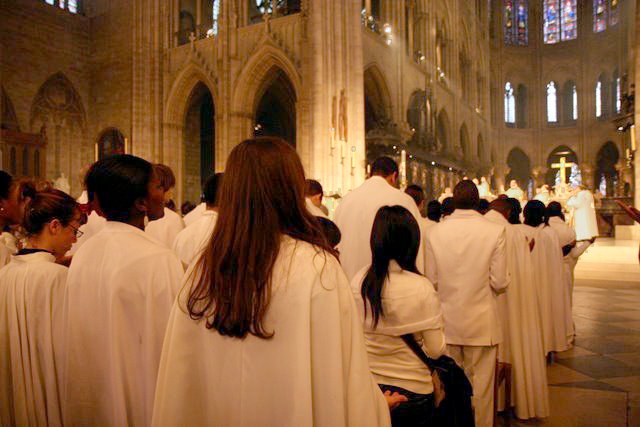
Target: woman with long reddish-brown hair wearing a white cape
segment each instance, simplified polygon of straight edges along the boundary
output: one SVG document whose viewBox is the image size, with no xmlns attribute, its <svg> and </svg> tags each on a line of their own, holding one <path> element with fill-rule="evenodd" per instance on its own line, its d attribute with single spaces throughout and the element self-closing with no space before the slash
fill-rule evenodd
<svg viewBox="0 0 640 427">
<path fill-rule="evenodd" d="M 237 145 L 219 205 L 171 312 L 153 425 L 389 425 L 295 150 L 266 137 Z"/>
</svg>

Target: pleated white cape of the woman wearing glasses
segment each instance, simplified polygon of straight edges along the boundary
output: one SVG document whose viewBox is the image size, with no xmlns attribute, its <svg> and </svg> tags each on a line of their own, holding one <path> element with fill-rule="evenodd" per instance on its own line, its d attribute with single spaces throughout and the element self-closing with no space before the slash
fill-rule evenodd
<svg viewBox="0 0 640 427">
<path fill-rule="evenodd" d="M 0 425 L 62 424 L 66 279 L 48 252 L 14 256 L 0 270 Z"/>
</svg>

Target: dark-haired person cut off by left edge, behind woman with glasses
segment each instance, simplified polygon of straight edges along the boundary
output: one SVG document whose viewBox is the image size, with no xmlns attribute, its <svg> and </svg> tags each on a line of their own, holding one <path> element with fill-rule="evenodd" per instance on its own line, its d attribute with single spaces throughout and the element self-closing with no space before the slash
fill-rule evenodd
<svg viewBox="0 0 640 427">
<path fill-rule="evenodd" d="M 34 188 L 28 182 L 20 182 L 0 170 L 0 267 L 16 253 L 16 239 L 8 231 L 12 225 L 22 222 L 25 205 L 31 200 Z"/>
</svg>

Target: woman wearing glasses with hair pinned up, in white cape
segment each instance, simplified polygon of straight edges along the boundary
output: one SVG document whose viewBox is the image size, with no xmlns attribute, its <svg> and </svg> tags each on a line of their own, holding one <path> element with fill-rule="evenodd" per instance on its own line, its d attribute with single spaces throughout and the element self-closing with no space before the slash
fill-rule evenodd
<svg viewBox="0 0 640 427">
<path fill-rule="evenodd" d="M 0 425 L 60 425 L 62 312 L 67 268 L 56 263 L 80 235 L 82 213 L 59 190 L 27 203 L 26 245 L 0 269 Z"/>
</svg>

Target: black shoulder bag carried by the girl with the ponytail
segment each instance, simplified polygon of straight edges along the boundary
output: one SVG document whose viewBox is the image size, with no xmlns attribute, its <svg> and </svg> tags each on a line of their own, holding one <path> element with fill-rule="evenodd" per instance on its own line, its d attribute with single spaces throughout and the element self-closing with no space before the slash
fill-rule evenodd
<svg viewBox="0 0 640 427">
<path fill-rule="evenodd" d="M 422 351 L 413 334 L 402 335 L 402 340 L 424 363 L 433 378 L 436 410 L 434 424 L 437 426 L 474 427 L 471 382 L 451 357 L 432 359 Z"/>
</svg>

